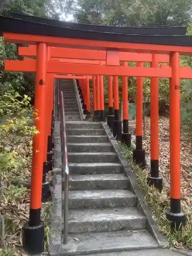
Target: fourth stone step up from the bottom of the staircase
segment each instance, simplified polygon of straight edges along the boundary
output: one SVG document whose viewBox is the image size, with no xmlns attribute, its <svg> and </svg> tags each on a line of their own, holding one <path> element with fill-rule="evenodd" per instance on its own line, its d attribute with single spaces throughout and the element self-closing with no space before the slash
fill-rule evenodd
<svg viewBox="0 0 192 256">
<path fill-rule="evenodd" d="M 129 179 L 123 174 L 71 175 L 70 190 L 127 189 Z"/>
</svg>

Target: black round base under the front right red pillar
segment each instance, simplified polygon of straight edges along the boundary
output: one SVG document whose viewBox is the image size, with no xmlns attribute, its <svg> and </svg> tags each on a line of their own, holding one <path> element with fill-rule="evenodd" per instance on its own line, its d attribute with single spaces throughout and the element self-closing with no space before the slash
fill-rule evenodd
<svg viewBox="0 0 192 256">
<path fill-rule="evenodd" d="M 172 229 L 179 230 L 182 226 L 185 226 L 187 221 L 187 216 L 185 213 L 172 213 L 167 212 L 166 218 L 170 221 L 170 226 Z"/>
</svg>

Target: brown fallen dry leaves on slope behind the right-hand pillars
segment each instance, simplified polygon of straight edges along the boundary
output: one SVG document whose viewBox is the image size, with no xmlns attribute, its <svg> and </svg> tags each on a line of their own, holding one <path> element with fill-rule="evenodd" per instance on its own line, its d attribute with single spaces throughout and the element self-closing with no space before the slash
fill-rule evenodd
<svg viewBox="0 0 192 256">
<path fill-rule="evenodd" d="M 131 131 L 134 131 L 135 121 L 130 121 Z M 134 139 L 133 139 L 134 140 Z M 146 157 L 150 158 L 150 118 L 145 117 L 145 135 L 143 146 Z M 191 140 L 188 134 L 181 131 L 180 137 L 180 179 L 181 205 L 192 214 L 192 152 Z M 169 175 L 169 118 L 159 117 L 159 171 L 170 184 Z"/>
</svg>

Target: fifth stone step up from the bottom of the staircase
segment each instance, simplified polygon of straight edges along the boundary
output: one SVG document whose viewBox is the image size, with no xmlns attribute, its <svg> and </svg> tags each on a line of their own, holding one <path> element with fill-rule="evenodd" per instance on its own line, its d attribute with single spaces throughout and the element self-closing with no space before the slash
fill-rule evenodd
<svg viewBox="0 0 192 256">
<path fill-rule="evenodd" d="M 69 172 L 75 174 L 120 173 L 120 163 L 69 163 Z"/>
</svg>

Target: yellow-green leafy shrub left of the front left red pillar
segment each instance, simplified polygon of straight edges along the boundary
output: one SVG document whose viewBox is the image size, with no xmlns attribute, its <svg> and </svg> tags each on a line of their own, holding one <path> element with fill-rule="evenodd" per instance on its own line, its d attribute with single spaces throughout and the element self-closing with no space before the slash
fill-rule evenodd
<svg viewBox="0 0 192 256">
<path fill-rule="evenodd" d="M 16 150 L 17 145 L 21 143 L 22 138 L 28 137 L 31 140 L 31 136 L 38 133 L 35 126 L 31 125 L 33 109 L 29 100 L 30 98 L 26 95 L 22 98 L 18 92 L 13 90 L 12 86 L 4 94 L 1 94 L 0 99 L 0 116 L 3 117 L 0 123 L 0 175 L 3 178 L 4 186 L 7 184 L 5 194 L 10 198 L 23 195 L 25 191 L 24 188 L 14 187 L 15 190 L 12 187 L 12 180 L 16 176 L 22 175 L 22 171 L 21 173 L 17 173 L 17 171 L 26 168 L 29 159 L 27 154 L 23 155 Z M 30 147 L 30 145 L 29 143 L 28 146 Z M 5 197 L 7 198 L 7 196 Z"/>
</svg>

